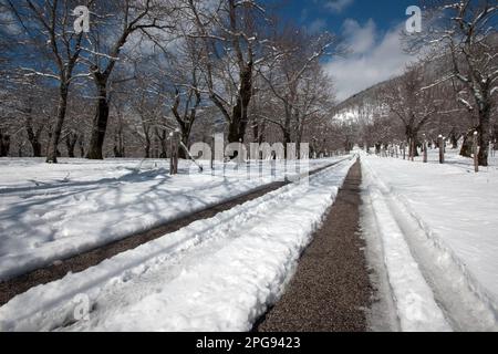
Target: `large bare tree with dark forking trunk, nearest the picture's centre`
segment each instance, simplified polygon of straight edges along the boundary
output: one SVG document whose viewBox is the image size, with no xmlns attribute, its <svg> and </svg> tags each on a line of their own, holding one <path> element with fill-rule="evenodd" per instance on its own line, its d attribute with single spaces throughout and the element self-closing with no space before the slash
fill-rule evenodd
<svg viewBox="0 0 498 354">
<path fill-rule="evenodd" d="M 264 58 L 258 25 L 264 10 L 256 1 L 185 1 L 185 17 L 201 40 L 207 95 L 228 124 L 228 142 L 243 142 L 253 96 L 255 67 Z"/>
</svg>

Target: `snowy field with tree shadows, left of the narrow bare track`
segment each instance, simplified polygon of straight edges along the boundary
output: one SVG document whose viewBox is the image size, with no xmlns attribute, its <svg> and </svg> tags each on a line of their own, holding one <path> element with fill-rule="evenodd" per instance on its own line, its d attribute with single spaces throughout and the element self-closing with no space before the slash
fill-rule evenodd
<svg viewBox="0 0 498 354">
<path fill-rule="evenodd" d="M 338 158 L 299 162 L 300 171 Z M 205 163 L 205 165 L 208 165 Z M 168 160 L 0 159 L 0 280 L 122 239 L 283 179 L 270 163 L 247 167 L 183 162 L 169 176 Z M 224 174 L 225 168 L 225 174 Z M 190 171 L 190 173 L 189 173 Z M 294 170 L 288 171 L 290 175 Z"/>
</svg>

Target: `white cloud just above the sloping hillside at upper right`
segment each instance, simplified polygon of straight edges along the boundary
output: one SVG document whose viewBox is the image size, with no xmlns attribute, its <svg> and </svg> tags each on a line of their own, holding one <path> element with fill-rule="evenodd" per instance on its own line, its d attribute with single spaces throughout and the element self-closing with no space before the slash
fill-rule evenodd
<svg viewBox="0 0 498 354">
<path fill-rule="evenodd" d="M 401 74 L 414 60 L 403 52 L 400 37 L 403 27 L 404 23 L 381 35 L 373 20 L 363 27 L 354 20 L 344 21 L 343 35 L 352 53 L 324 64 L 334 80 L 339 101 Z"/>
</svg>

